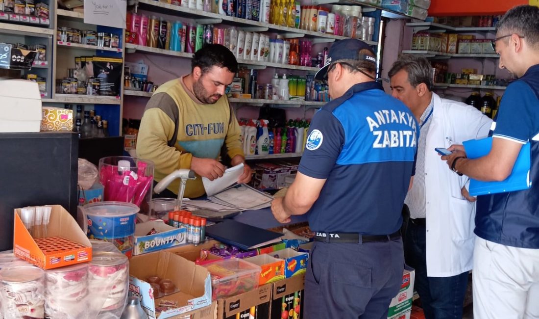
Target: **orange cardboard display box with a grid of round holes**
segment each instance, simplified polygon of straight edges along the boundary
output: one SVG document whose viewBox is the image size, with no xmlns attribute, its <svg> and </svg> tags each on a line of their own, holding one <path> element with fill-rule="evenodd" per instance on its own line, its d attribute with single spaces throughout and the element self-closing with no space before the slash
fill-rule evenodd
<svg viewBox="0 0 539 319">
<path fill-rule="evenodd" d="M 53 269 L 92 260 L 92 245 L 82 229 L 60 205 L 52 205 L 47 236 L 34 239 L 15 209 L 13 254 L 39 268 Z"/>
</svg>

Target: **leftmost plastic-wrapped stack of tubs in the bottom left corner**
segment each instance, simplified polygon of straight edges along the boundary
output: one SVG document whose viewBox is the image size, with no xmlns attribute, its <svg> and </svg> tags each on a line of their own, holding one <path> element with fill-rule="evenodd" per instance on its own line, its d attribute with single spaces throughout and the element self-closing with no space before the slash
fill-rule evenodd
<svg viewBox="0 0 539 319">
<path fill-rule="evenodd" d="M 45 317 L 45 272 L 34 266 L 0 270 L 0 296 L 5 319 Z"/>
</svg>

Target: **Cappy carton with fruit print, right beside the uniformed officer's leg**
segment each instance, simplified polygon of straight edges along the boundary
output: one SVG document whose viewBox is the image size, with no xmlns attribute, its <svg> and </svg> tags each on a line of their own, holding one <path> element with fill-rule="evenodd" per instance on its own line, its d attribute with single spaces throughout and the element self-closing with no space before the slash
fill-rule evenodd
<svg viewBox="0 0 539 319">
<path fill-rule="evenodd" d="M 281 319 L 285 311 L 292 317 L 303 318 L 303 290 L 305 275 L 294 276 L 273 283 L 271 319 Z M 311 319 L 311 318 L 308 318 Z"/>
</svg>

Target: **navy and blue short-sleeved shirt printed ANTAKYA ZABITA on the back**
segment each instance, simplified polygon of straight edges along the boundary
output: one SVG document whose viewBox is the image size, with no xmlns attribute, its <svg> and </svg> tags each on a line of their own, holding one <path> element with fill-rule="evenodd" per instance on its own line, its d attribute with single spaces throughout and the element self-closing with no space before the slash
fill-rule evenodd
<svg viewBox="0 0 539 319">
<path fill-rule="evenodd" d="M 356 84 L 317 112 L 299 171 L 327 179 L 308 212 L 314 232 L 388 235 L 402 224 L 419 126 L 376 82 Z"/>
</svg>

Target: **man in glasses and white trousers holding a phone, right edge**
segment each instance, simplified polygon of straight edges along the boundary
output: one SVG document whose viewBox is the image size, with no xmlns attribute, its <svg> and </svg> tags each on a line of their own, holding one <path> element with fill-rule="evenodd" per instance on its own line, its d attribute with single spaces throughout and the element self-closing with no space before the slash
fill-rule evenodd
<svg viewBox="0 0 539 319">
<path fill-rule="evenodd" d="M 509 84 L 491 128 L 492 149 L 467 159 L 464 148 L 442 157 L 454 171 L 503 181 L 522 145 L 530 143 L 531 188 L 478 196 L 475 214 L 474 318 L 539 318 L 539 8 L 507 11 L 492 41 Z"/>
</svg>

